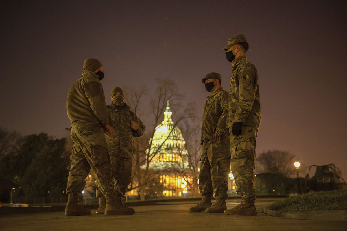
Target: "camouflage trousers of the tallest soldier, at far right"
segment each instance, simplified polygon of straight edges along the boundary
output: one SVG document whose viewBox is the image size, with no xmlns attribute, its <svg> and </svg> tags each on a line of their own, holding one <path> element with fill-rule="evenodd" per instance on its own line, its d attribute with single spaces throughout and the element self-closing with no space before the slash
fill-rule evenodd
<svg viewBox="0 0 347 231">
<path fill-rule="evenodd" d="M 255 144 L 256 137 L 242 141 L 231 149 L 231 171 L 237 187 L 236 193 L 247 199 L 255 199 Z"/>
</svg>

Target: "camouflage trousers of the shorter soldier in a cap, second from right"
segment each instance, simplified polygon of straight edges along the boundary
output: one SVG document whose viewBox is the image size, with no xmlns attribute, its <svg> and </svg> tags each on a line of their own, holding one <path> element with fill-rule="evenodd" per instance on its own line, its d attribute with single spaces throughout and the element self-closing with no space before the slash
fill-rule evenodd
<svg viewBox="0 0 347 231">
<path fill-rule="evenodd" d="M 204 140 L 199 173 L 201 196 L 216 199 L 228 198 L 228 177 L 230 173 L 229 140 Z"/>
</svg>

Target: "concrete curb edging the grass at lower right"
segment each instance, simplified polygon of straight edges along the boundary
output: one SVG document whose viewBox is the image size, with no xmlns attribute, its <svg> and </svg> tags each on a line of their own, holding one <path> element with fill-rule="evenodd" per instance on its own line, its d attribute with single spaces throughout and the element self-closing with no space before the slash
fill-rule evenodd
<svg viewBox="0 0 347 231">
<path fill-rule="evenodd" d="M 319 221 L 347 221 L 347 210 L 277 212 L 264 208 L 263 213 L 283 218 Z"/>
</svg>

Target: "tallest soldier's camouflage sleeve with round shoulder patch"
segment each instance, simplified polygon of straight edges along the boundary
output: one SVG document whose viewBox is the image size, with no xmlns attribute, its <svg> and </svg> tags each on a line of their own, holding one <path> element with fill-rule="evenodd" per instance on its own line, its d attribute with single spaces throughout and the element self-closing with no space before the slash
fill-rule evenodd
<svg viewBox="0 0 347 231">
<path fill-rule="evenodd" d="M 239 101 L 235 114 L 235 122 L 243 123 L 252 109 L 255 91 L 254 91 L 255 70 L 253 66 L 246 66 L 240 70 L 239 81 Z"/>
</svg>

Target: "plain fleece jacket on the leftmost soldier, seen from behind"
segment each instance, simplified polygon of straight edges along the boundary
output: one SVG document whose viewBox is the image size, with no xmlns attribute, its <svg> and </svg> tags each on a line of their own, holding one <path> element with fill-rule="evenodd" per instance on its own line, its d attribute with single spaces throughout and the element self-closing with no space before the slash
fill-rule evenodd
<svg viewBox="0 0 347 231">
<path fill-rule="evenodd" d="M 71 124 L 112 125 L 97 74 L 83 71 L 82 78 L 76 80 L 69 90 L 66 111 Z"/>
</svg>

